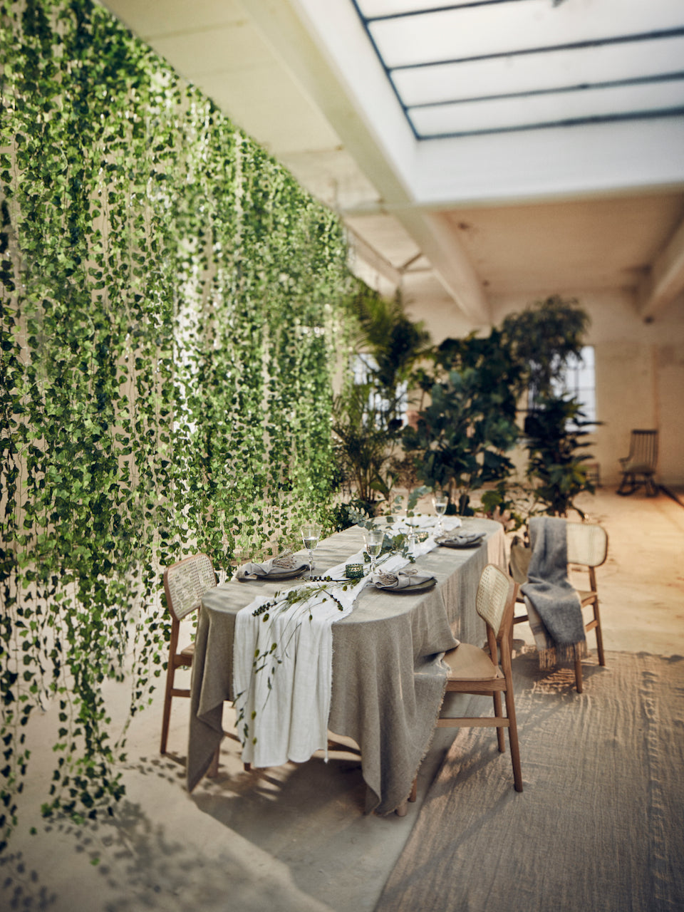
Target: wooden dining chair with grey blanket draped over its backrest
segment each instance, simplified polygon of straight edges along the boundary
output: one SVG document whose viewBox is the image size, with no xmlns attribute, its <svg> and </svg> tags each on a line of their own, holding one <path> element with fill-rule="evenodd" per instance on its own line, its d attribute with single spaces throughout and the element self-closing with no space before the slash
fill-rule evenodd
<svg viewBox="0 0 684 912">
<path fill-rule="evenodd" d="M 598 609 L 598 591 L 596 587 L 596 567 L 606 563 L 608 554 L 608 534 L 603 526 L 597 523 L 571 523 L 566 521 L 567 534 L 567 564 L 577 566 L 586 573 L 588 589 L 575 589 L 579 596 L 582 608 L 591 607 L 592 617 L 585 623 L 585 630 L 596 630 L 596 652 L 598 664 L 606 665 L 606 655 L 603 648 L 603 633 L 601 632 L 601 615 Z M 532 549 L 523 544 L 511 545 L 510 570 L 513 580 L 522 586 L 527 582 L 527 570 L 532 557 Z M 518 592 L 517 603 L 524 605 L 524 597 Z M 528 621 L 527 613 L 516 614 L 513 624 L 522 624 Z M 582 662 L 575 660 L 575 686 L 577 693 L 582 693 Z"/>
</svg>

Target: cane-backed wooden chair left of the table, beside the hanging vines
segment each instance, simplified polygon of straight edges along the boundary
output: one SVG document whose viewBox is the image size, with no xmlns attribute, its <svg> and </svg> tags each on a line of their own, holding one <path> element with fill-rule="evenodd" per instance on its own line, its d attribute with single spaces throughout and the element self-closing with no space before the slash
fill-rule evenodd
<svg viewBox="0 0 684 912">
<path fill-rule="evenodd" d="M 164 594 L 166 606 L 171 615 L 171 642 L 169 643 L 169 664 L 166 671 L 166 692 L 164 694 L 164 711 L 161 719 L 161 748 L 166 753 L 171 720 L 171 700 L 174 697 L 190 697 L 190 689 L 174 686 L 178 668 L 192 668 L 195 645 L 179 649 L 181 621 L 190 617 L 199 609 L 202 595 L 216 586 L 216 575 L 213 572 L 211 559 L 207 554 L 191 554 L 164 570 Z"/>
</svg>

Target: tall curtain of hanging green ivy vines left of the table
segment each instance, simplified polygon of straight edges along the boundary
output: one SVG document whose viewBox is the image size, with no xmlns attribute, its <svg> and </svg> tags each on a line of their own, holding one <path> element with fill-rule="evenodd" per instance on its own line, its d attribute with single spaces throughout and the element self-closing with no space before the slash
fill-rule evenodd
<svg viewBox="0 0 684 912">
<path fill-rule="evenodd" d="M 48 705 L 44 814 L 119 799 L 102 684 L 149 703 L 161 567 L 326 503 L 353 280 L 336 217 L 102 7 L 0 3 L 0 62 L 2 847 Z"/>
</svg>

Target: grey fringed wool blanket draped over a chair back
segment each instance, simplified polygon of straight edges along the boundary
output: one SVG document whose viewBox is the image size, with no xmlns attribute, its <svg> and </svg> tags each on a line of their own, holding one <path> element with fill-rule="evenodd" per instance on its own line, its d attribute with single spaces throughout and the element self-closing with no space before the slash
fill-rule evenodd
<svg viewBox="0 0 684 912">
<path fill-rule="evenodd" d="M 565 520 L 537 516 L 530 520 L 532 557 L 521 592 L 527 606 L 540 668 L 556 660 L 586 656 L 585 624 L 579 596 L 567 578 Z"/>
</svg>

